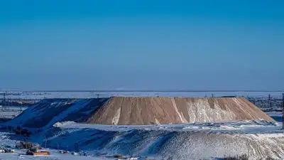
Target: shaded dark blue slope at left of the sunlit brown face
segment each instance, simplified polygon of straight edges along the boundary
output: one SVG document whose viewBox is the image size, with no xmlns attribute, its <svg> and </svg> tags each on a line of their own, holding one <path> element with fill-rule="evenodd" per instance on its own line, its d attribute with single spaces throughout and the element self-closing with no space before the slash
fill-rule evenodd
<svg viewBox="0 0 284 160">
<path fill-rule="evenodd" d="M 98 99 L 45 99 L 28 107 L 18 117 L 6 122 L 9 126 L 22 126 L 34 129 L 52 127 L 57 122 L 86 122 L 97 108 L 109 98 Z"/>
</svg>

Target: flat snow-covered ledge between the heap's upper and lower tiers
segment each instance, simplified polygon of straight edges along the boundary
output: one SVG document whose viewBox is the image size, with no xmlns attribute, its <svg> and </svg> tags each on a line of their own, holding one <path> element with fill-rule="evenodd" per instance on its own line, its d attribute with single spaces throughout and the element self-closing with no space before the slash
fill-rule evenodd
<svg viewBox="0 0 284 160">
<path fill-rule="evenodd" d="M 103 131 L 126 132 L 133 129 L 160 130 L 171 132 L 212 132 L 212 133 L 242 133 L 242 134 L 267 134 L 284 133 L 282 123 L 272 123 L 265 120 L 244 120 L 234 122 L 212 122 L 193 124 L 160 124 L 160 125 L 104 125 L 104 124 L 79 124 L 75 122 L 58 122 L 53 125 L 62 129 L 99 129 Z"/>
</svg>

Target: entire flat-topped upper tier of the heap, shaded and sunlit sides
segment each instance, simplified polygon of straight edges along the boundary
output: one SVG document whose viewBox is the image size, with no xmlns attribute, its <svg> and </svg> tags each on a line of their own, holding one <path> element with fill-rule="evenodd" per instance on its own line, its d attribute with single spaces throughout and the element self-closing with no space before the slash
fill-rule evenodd
<svg viewBox="0 0 284 160">
<path fill-rule="evenodd" d="M 51 127 L 56 122 L 146 125 L 265 119 L 275 122 L 244 98 L 235 97 L 110 97 L 48 99 L 29 107 L 7 124 L 28 128 Z"/>
</svg>

